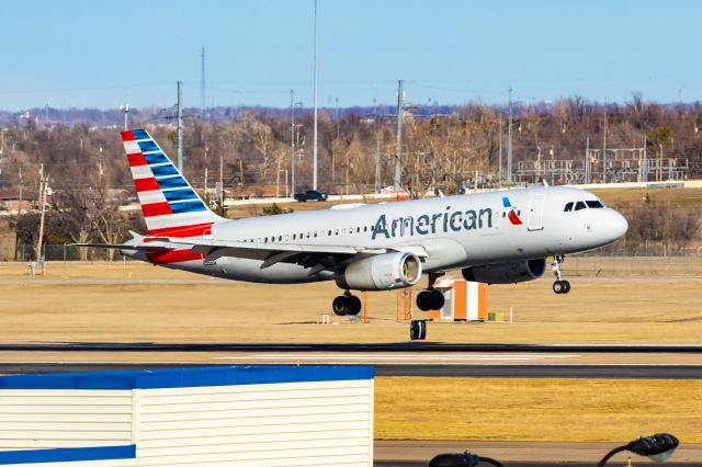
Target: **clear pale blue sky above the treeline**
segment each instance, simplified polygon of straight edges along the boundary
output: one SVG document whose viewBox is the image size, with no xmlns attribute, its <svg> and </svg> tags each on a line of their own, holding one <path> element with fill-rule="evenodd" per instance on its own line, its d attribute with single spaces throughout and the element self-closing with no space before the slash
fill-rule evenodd
<svg viewBox="0 0 702 467">
<path fill-rule="evenodd" d="M 313 94 L 314 0 L 2 2 L 0 110 Z M 702 96 L 702 2 L 318 0 L 319 104 Z"/>
</svg>

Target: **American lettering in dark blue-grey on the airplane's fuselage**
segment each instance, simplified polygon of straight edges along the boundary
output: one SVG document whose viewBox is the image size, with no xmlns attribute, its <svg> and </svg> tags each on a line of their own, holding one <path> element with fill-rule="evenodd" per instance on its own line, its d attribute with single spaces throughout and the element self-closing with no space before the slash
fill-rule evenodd
<svg viewBox="0 0 702 467">
<path fill-rule="evenodd" d="M 446 206 L 443 213 L 422 214 L 417 217 L 401 216 L 390 219 L 389 223 L 385 214 L 382 214 L 375 221 L 371 239 L 375 240 L 378 236 L 388 239 L 491 227 L 492 209 L 489 207 L 477 210 L 452 210 L 451 206 Z"/>
</svg>

